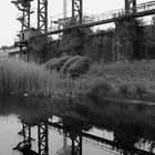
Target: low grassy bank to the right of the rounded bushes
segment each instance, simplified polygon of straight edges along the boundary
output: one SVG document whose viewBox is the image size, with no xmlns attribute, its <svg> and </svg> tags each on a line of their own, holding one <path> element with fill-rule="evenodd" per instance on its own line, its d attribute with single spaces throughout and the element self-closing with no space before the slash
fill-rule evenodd
<svg viewBox="0 0 155 155">
<path fill-rule="evenodd" d="M 93 99 L 114 97 L 155 101 L 155 61 L 94 64 L 75 81 Z"/>
</svg>

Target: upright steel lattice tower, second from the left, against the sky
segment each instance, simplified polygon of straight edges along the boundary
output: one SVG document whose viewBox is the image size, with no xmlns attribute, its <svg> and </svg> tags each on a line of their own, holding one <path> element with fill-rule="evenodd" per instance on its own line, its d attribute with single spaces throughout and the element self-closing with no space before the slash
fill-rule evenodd
<svg viewBox="0 0 155 155">
<path fill-rule="evenodd" d="M 48 32 L 48 0 L 38 0 L 38 29 Z"/>
</svg>

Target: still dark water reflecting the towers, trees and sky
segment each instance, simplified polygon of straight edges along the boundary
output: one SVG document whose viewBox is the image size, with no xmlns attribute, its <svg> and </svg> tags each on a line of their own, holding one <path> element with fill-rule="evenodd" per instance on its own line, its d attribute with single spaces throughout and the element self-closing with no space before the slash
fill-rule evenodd
<svg viewBox="0 0 155 155">
<path fill-rule="evenodd" d="M 155 106 L 0 97 L 0 155 L 154 155 Z"/>
</svg>

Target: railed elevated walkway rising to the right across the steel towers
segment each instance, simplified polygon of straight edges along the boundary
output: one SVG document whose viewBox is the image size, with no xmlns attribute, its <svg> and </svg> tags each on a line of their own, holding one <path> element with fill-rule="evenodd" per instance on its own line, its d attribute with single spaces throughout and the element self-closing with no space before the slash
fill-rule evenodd
<svg viewBox="0 0 155 155">
<path fill-rule="evenodd" d="M 155 1 L 149 1 L 149 2 L 137 4 L 135 11 L 131 10 L 131 12 L 125 12 L 125 9 L 118 9 L 111 12 L 104 12 L 101 14 L 91 16 L 89 17 L 89 20 L 84 20 L 83 24 L 74 24 L 72 27 L 66 27 L 64 29 L 58 29 L 54 31 L 50 31 L 44 35 L 56 34 L 66 31 L 69 29 L 73 29 L 75 27 L 89 28 L 89 27 L 133 19 L 133 18 L 141 18 L 154 13 L 155 13 Z"/>
</svg>

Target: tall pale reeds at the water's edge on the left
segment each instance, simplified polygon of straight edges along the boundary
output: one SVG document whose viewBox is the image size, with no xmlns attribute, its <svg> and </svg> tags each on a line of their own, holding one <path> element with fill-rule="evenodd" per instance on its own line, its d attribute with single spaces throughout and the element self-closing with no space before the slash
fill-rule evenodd
<svg viewBox="0 0 155 155">
<path fill-rule="evenodd" d="M 0 93 L 64 95 L 68 82 L 34 63 L 0 59 Z"/>
</svg>

